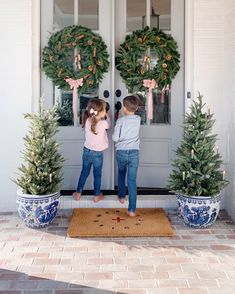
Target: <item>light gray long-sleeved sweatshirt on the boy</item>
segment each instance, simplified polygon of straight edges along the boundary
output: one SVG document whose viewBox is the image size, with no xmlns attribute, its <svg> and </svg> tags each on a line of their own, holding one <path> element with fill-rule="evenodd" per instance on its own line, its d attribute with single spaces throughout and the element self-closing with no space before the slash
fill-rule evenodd
<svg viewBox="0 0 235 294">
<path fill-rule="evenodd" d="M 140 116 L 125 115 L 120 117 L 115 125 L 113 141 L 117 150 L 139 149 Z"/>
</svg>

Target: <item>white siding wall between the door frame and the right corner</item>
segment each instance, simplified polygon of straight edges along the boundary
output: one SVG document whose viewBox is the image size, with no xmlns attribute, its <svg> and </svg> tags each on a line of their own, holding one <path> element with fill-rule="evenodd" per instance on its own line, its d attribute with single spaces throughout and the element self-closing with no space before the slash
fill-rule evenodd
<svg viewBox="0 0 235 294">
<path fill-rule="evenodd" d="M 229 3 L 230 2 L 230 3 Z M 225 24 L 228 22 L 225 14 L 231 0 L 194 0 L 194 97 L 198 91 L 204 96 L 204 101 L 211 112 L 215 114 L 214 132 L 218 134 L 218 147 L 228 170 L 229 149 L 227 132 L 228 112 L 231 112 L 230 101 L 232 93 L 225 75 L 231 73 L 225 68 L 225 57 L 228 53 Z M 232 11 L 231 20 L 232 20 Z M 234 20 L 232 20 L 234 22 Z M 228 23 L 230 26 L 230 23 Z M 232 34 L 232 30 L 231 30 Z M 232 37 L 230 34 L 230 37 Z M 234 36 L 233 36 L 234 39 Z M 231 52 L 232 53 L 232 52 Z M 233 55 L 233 54 L 232 54 Z M 205 109 L 207 110 L 207 108 Z M 233 145 L 234 146 L 234 145 Z M 223 191 L 222 207 L 228 206 L 228 189 Z"/>
</svg>

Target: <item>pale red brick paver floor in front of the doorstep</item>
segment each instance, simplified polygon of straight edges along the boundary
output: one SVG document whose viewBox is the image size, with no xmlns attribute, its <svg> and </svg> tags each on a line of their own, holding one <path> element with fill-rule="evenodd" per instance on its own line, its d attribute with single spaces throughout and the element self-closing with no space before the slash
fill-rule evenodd
<svg viewBox="0 0 235 294">
<path fill-rule="evenodd" d="M 0 213 L 0 293 L 235 293 L 235 223 L 224 211 L 207 229 L 168 211 L 172 238 L 71 239 L 70 215 L 33 230 Z"/>
</svg>

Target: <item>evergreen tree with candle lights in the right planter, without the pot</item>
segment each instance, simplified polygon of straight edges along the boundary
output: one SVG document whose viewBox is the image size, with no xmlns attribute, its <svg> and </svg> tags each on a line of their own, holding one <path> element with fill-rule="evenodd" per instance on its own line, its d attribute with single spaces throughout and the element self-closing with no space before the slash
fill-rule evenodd
<svg viewBox="0 0 235 294">
<path fill-rule="evenodd" d="M 170 175 L 169 188 L 188 196 L 217 196 L 227 185 L 221 171 L 221 156 L 215 146 L 217 135 L 211 134 L 215 120 L 199 94 L 191 112 L 186 114 L 184 135 L 176 151 L 175 169 Z"/>
</svg>

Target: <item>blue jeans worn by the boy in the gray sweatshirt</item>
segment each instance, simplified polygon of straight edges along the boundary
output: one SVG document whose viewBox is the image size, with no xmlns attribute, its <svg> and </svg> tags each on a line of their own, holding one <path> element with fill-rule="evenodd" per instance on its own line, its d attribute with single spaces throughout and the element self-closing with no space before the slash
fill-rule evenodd
<svg viewBox="0 0 235 294">
<path fill-rule="evenodd" d="M 139 166 L 139 150 L 117 150 L 116 159 L 118 163 L 118 197 L 124 198 L 126 196 L 125 179 L 127 174 L 127 186 L 129 195 L 129 212 L 136 210 L 136 176 Z"/>
</svg>

